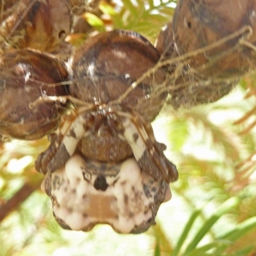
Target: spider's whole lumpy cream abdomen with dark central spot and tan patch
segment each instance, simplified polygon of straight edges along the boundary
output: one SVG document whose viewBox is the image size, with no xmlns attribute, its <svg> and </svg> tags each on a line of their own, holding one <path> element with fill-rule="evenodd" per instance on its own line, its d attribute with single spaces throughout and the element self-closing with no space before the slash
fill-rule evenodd
<svg viewBox="0 0 256 256">
<path fill-rule="evenodd" d="M 95 186 L 100 177 L 103 188 Z M 105 223 L 116 232 L 133 234 L 156 224 L 159 206 L 172 196 L 168 183 L 152 179 L 135 159 L 104 164 L 78 155 L 56 172 L 48 172 L 42 189 L 65 229 L 90 231 Z"/>
</svg>

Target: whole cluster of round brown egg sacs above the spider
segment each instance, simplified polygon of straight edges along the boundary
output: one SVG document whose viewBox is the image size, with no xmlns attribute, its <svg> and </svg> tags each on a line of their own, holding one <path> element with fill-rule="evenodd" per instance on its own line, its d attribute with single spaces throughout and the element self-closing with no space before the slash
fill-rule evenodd
<svg viewBox="0 0 256 256">
<path fill-rule="evenodd" d="M 242 36 L 248 35 L 248 28 L 211 51 L 180 60 L 177 57 L 210 45 L 245 25 L 254 32 L 255 0 L 243 1 L 243 6 L 230 0 L 180 1 L 173 24 L 163 29 L 156 47 L 138 33 L 112 31 L 94 36 L 72 51 L 64 39 L 72 29 L 74 15 L 84 11 L 84 3 L 82 0 L 1 1 L 2 136 L 33 140 L 56 129 L 65 105 L 49 96 L 71 95 L 92 104 L 118 99 L 156 65 L 161 54 L 164 54 L 161 60 L 170 60 L 171 65 L 145 76 L 121 102 L 122 107 L 138 111 L 149 121 L 159 112 L 167 92 L 172 95 L 169 102 L 175 108 L 215 101 L 231 90 L 237 74 L 254 67 L 253 47 L 230 51 Z M 239 13 L 224 12 L 232 4 L 240 4 Z M 255 35 L 246 40 L 254 44 Z M 67 59 L 68 65 L 64 61 Z M 193 72 L 189 72 L 191 69 Z M 29 104 L 38 97 L 45 100 L 31 108 Z"/>
</svg>

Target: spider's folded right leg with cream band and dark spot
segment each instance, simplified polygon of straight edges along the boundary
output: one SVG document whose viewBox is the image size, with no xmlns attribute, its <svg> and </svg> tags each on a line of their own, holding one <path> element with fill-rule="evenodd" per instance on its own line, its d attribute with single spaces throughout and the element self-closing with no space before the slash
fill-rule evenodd
<svg viewBox="0 0 256 256">
<path fill-rule="evenodd" d="M 178 179 L 176 166 L 163 153 L 163 144 L 157 143 L 150 123 L 138 114 L 118 111 L 123 118 L 124 137 L 140 167 L 155 180 L 173 182 Z"/>
</svg>

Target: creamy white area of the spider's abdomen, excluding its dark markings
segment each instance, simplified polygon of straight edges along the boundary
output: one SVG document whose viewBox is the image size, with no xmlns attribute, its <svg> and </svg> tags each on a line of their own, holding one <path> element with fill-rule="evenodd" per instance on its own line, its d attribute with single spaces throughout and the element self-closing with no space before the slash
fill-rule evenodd
<svg viewBox="0 0 256 256">
<path fill-rule="evenodd" d="M 100 164 L 94 163 L 95 166 Z M 81 156 L 75 155 L 70 157 L 65 168 L 51 174 L 49 186 L 54 198 L 52 207 L 56 218 L 63 220 L 73 230 L 87 230 L 93 223 L 108 223 L 121 233 L 129 233 L 133 228 L 140 227 L 145 221 L 154 218 L 150 209 L 156 203 L 154 198 L 158 191 L 150 189 L 161 188 L 156 181 L 152 184 L 152 177 L 146 172 L 141 172 L 134 158 L 114 166 L 115 170 L 116 167 L 119 169 L 116 175 L 119 179 L 106 191 L 93 187 L 97 174 L 88 170 L 88 166 Z M 92 173 L 92 180 L 89 182 L 83 179 L 84 170 Z M 54 186 L 54 177 L 61 180 L 60 187 Z M 44 184 L 42 186 L 44 187 Z M 150 195 L 145 195 L 145 186 Z"/>
</svg>

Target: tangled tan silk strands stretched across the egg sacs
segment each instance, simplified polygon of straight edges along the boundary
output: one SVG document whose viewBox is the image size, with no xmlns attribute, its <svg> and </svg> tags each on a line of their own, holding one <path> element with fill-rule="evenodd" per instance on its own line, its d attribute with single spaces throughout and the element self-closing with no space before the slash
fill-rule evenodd
<svg viewBox="0 0 256 256">
<path fill-rule="evenodd" d="M 36 1 L 29 2 L 30 4 L 33 4 Z M 9 3 L 12 2 L 10 1 Z M 25 9 L 24 15 L 28 11 L 29 6 Z M 20 22 L 22 22 L 22 17 L 23 16 L 21 15 L 20 18 L 17 19 L 17 22 L 13 26 L 13 29 L 11 29 L 7 38 L 12 37 L 12 33 L 19 26 Z M 1 26 L 1 28 L 4 28 L 3 22 L 1 23 Z M 141 97 L 141 100 L 139 100 L 138 104 L 135 106 L 138 109 L 141 108 L 141 102 L 145 102 L 145 97 L 147 97 L 147 102 L 150 102 L 147 103 L 147 107 L 154 108 L 155 99 L 163 95 L 163 93 L 168 93 L 168 97 L 166 97 L 166 104 L 170 104 L 174 108 L 179 108 L 180 106 L 190 108 L 196 104 L 212 102 L 216 99 L 219 99 L 221 96 L 225 95 L 231 90 L 233 85 L 236 84 L 241 77 L 241 74 L 237 74 L 235 76 L 232 74 L 232 76 L 227 77 L 218 76 L 219 74 L 208 76 L 207 70 L 215 63 L 220 62 L 220 60 L 225 60 L 225 58 L 234 52 L 243 51 L 244 47 L 255 51 L 255 46 L 249 41 L 251 35 L 252 28 L 250 28 L 250 26 L 244 26 L 243 28 L 234 31 L 234 33 L 230 33 L 230 35 L 221 38 L 213 44 L 207 45 L 201 49 L 196 49 L 195 51 L 185 53 L 180 50 L 179 42 L 176 42 L 176 38 L 174 37 L 172 40 L 170 40 L 170 44 L 166 46 L 165 51 L 163 52 L 160 60 L 156 63 L 156 65 L 147 70 L 147 72 L 145 72 L 139 79 L 134 81 L 126 90 L 126 92 L 122 93 L 122 95 L 120 95 L 112 102 L 109 102 L 109 105 L 120 104 L 120 102 L 128 97 L 129 93 L 140 86 L 141 82 L 143 82 L 147 77 L 152 79 L 150 95 L 145 93 L 144 97 Z M 209 52 L 220 49 L 222 45 L 225 45 L 234 39 L 237 39 L 236 44 L 233 44 L 232 47 L 229 47 L 228 51 L 219 52 L 216 58 L 209 58 L 207 61 L 200 63 L 200 65 L 195 65 L 196 58 L 202 55 L 209 56 Z M 6 37 L 3 38 L 2 36 L 2 52 L 8 51 L 6 50 L 6 44 L 8 45 L 8 40 Z M 250 60 L 248 60 L 248 62 L 250 63 Z M 154 74 L 156 74 L 157 70 L 162 69 L 166 72 L 166 78 L 164 79 L 163 83 L 157 84 L 156 81 L 154 81 Z M 204 72 L 206 75 L 204 75 Z M 212 84 L 214 84 L 213 90 L 211 89 Z M 62 84 L 49 84 L 49 86 L 60 85 Z M 70 86 L 72 86 L 72 82 L 70 82 Z M 225 88 L 227 88 L 227 90 Z M 214 96 L 214 93 L 217 96 Z M 67 99 L 70 99 L 70 97 L 58 97 L 58 99 L 54 97 L 47 97 L 41 100 L 42 103 L 47 100 L 62 100 L 63 103 L 65 103 L 65 100 Z M 76 99 L 71 100 L 75 103 L 77 101 Z M 77 101 L 77 103 L 84 104 L 84 102 L 79 101 Z M 37 102 L 36 104 L 40 104 L 40 102 Z"/>
</svg>

